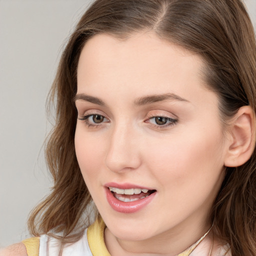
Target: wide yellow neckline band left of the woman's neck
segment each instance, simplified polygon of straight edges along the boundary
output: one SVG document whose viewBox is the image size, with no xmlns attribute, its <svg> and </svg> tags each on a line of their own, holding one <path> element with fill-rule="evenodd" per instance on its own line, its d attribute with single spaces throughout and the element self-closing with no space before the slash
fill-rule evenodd
<svg viewBox="0 0 256 256">
<path fill-rule="evenodd" d="M 93 256 L 111 256 L 104 242 L 104 230 L 105 224 L 102 218 L 96 218 L 87 229 L 88 244 Z"/>
</svg>

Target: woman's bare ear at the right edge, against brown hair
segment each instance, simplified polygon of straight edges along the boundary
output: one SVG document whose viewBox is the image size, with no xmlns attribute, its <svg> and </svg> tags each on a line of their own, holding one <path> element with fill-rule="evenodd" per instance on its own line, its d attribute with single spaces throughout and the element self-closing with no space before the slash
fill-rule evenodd
<svg viewBox="0 0 256 256">
<path fill-rule="evenodd" d="M 240 107 L 232 118 L 229 128 L 231 136 L 228 140 L 229 147 L 224 165 L 236 167 L 250 158 L 255 147 L 255 115 L 252 108 L 250 106 Z"/>
</svg>

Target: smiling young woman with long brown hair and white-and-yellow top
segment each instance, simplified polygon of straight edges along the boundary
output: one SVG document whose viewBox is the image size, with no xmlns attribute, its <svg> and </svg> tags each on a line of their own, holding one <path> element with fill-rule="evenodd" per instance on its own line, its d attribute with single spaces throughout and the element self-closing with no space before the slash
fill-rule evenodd
<svg viewBox="0 0 256 256">
<path fill-rule="evenodd" d="M 51 90 L 39 255 L 256 255 L 255 46 L 240 0 L 93 2 Z"/>
</svg>

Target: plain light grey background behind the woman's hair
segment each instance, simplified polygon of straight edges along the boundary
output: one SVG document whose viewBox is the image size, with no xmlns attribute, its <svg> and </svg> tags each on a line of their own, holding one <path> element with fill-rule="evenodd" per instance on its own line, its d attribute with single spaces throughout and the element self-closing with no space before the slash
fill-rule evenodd
<svg viewBox="0 0 256 256">
<path fill-rule="evenodd" d="M 49 192 L 45 100 L 89 1 L 0 0 L 0 247 L 29 237 L 28 213 Z M 255 25 L 256 0 L 245 3 Z"/>
</svg>

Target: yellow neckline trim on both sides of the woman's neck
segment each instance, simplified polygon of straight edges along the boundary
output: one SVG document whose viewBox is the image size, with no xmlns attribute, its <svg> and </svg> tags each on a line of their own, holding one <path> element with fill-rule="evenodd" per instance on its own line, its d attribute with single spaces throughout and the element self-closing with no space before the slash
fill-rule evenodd
<svg viewBox="0 0 256 256">
<path fill-rule="evenodd" d="M 92 225 L 90 225 L 87 229 L 88 244 L 93 256 L 111 256 L 104 242 L 105 227 L 106 226 L 102 218 L 97 218 L 95 222 Z M 210 229 L 198 241 L 196 241 L 189 248 L 177 254 L 176 256 L 188 256 L 195 249 L 195 247 L 202 241 L 202 239 L 208 234 Z"/>
</svg>

